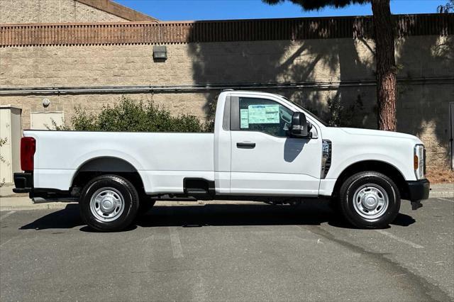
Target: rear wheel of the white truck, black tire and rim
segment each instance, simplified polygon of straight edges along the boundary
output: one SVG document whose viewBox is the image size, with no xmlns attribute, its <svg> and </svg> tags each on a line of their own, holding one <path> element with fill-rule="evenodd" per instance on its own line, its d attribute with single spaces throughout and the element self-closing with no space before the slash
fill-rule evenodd
<svg viewBox="0 0 454 302">
<path fill-rule="evenodd" d="M 96 201 L 96 196 L 101 198 L 100 202 Z M 94 199 L 91 206 L 92 198 Z M 107 211 L 107 214 L 102 213 L 103 208 L 100 206 L 104 201 L 111 206 L 107 208 L 110 213 Z M 118 206 L 117 202 L 122 206 Z M 116 175 L 101 175 L 84 186 L 79 198 L 79 208 L 82 219 L 89 227 L 101 232 L 119 231 L 127 228 L 135 219 L 139 208 L 139 196 L 133 184 L 127 179 Z M 108 215 L 114 217 L 109 218 Z"/>
</svg>

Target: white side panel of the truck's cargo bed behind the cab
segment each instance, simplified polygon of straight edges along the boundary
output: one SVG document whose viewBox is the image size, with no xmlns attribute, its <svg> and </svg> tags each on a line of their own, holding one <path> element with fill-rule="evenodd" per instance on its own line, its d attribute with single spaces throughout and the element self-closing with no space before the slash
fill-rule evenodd
<svg viewBox="0 0 454 302">
<path fill-rule="evenodd" d="M 96 157 L 133 165 L 150 194 L 181 193 L 184 177 L 214 180 L 214 133 L 26 130 L 24 135 L 36 140 L 35 188 L 68 190 L 77 169 Z"/>
</svg>

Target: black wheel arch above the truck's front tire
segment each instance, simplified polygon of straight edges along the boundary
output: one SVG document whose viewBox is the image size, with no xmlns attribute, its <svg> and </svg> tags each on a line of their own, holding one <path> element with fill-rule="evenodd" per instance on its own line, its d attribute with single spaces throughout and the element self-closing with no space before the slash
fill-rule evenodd
<svg viewBox="0 0 454 302">
<path fill-rule="evenodd" d="M 409 197 L 409 188 L 404 178 L 404 174 L 402 174 L 402 172 L 399 171 L 399 169 L 397 169 L 397 167 L 395 167 L 394 165 L 389 164 L 389 162 L 383 162 L 381 160 L 362 160 L 360 162 L 350 164 L 348 167 L 343 169 L 341 174 L 339 174 L 336 180 L 336 184 L 334 185 L 332 195 L 338 195 L 345 179 L 348 179 L 348 177 L 352 176 L 353 174 L 365 171 L 375 171 L 386 175 L 387 177 L 392 179 L 392 181 L 394 181 L 394 184 L 396 184 L 397 188 L 399 189 L 399 193 L 402 199 Z"/>
</svg>

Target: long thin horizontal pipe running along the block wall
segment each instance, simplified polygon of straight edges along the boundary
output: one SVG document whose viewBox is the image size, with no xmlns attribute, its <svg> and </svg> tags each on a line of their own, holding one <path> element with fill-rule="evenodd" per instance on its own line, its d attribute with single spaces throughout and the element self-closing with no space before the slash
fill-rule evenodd
<svg viewBox="0 0 454 302">
<path fill-rule="evenodd" d="M 453 84 L 454 77 L 402 78 L 403 84 Z M 292 82 L 292 83 L 249 83 L 249 84 L 206 84 L 166 86 L 59 86 L 59 87 L 0 87 L 0 95 L 34 94 L 139 94 L 139 93 L 191 93 L 223 89 L 338 89 L 343 87 L 375 86 L 374 79 L 335 82 Z"/>
</svg>

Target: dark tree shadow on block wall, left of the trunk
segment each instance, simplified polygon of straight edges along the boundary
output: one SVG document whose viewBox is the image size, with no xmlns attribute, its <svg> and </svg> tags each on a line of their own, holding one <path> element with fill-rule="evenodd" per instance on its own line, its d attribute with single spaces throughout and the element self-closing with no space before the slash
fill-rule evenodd
<svg viewBox="0 0 454 302">
<path fill-rule="evenodd" d="M 192 34 L 196 35 L 195 32 Z M 235 86 L 375 79 L 370 42 L 353 38 L 189 43 L 189 54 L 192 55 L 195 84 Z M 364 107 L 360 108 L 361 112 L 344 118 L 341 125 L 377 127 L 373 86 L 340 89 L 289 86 L 261 90 L 287 96 L 325 120 L 331 120 L 336 114 L 328 102 L 342 104 L 344 108 L 353 108 L 360 103 Z M 219 92 L 206 94 L 204 109 L 209 118 L 214 116 Z"/>
</svg>

